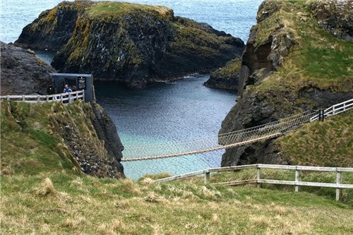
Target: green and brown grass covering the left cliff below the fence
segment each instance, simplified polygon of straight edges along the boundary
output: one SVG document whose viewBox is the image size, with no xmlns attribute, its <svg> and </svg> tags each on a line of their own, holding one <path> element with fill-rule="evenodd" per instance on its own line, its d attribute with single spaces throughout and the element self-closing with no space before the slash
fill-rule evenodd
<svg viewBox="0 0 353 235">
<path fill-rule="evenodd" d="M 87 151 L 107 156 L 92 126 L 90 104 L 1 102 L 1 174 L 61 172 L 80 174 L 62 140 L 65 126 L 85 140 Z M 84 144 L 82 141 L 80 144 Z"/>
</svg>

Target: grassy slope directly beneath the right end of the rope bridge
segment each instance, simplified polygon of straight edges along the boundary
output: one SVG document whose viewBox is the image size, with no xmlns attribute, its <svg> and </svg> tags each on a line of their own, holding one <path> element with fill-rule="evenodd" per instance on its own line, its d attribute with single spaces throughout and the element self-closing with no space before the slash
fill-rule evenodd
<svg viewBox="0 0 353 235">
<path fill-rule="evenodd" d="M 276 148 L 291 164 L 352 167 L 353 110 L 308 123 L 276 141 Z"/>
</svg>

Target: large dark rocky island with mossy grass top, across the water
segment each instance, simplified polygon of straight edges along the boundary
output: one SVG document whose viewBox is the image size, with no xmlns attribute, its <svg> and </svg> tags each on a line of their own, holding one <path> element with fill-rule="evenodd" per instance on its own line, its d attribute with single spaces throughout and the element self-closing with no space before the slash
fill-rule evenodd
<svg viewBox="0 0 353 235">
<path fill-rule="evenodd" d="M 171 9 L 121 2 L 63 2 L 23 29 L 22 47 L 59 52 L 60 72 L 93 73 L 133 88 L 206 72 L 239 56 L 244 42 Z"/>
</svg>

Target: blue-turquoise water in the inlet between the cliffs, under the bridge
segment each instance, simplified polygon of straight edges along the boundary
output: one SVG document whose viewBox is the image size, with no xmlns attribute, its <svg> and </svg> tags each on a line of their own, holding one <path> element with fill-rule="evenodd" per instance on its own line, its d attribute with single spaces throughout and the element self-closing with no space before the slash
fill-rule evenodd
<svg viewBox="0 0 353 235">
<path fill-rule="evenodd" d="M 95 82 L 97 102 L 112 117 L 122 143 L 128 145 L 192 140 L 217 135 L 236 94 L 203 86 L 208 75 L 192 75 L 144 90 Z M 123 152 L 124 155 L 124 152 Z M 219 167 L 222 151 L 141 162 L 124 162 L 126 176 L 168 172 L 183 174 Z"/>
</svg>

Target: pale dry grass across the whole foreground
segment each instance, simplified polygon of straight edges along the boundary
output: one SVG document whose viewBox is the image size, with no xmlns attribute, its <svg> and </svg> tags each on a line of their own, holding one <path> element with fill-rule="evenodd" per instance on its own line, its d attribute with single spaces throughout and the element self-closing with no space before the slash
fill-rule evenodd
<svg viewBox="0 0 353 235">
<path fill-rule="evenodd" d="M 49 179 L 47 179 L 49 177 Z M 219 176 L 211 176 L 211 179 Z M 349 234 L 352 205 L 311 193 L 140 183 L 71 174 L 1 176 L 5 234 Z M 333 222 L 335 217 L 335 222 Z"/>
</svg>

